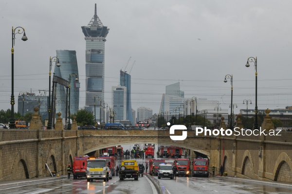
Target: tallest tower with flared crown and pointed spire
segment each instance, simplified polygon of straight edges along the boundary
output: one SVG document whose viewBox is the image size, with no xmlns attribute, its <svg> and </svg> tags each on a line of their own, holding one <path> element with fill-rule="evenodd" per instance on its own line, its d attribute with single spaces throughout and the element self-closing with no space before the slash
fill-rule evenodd
<svg viewBox="0 0 292 194">
<path fill-rule="evenodd" d="M 96 100 L 95 117 L 103 122 L 103 108 L 100 111 L 99 99 L 104 99 L 105 78 L 105 42 L 109 33 L 108 27 L 104 26 L 96 14 L 96 3 L 94 16 L 87 26 L 82 26 L 85 35 L 85 67 L 86 67 L 86 99 L 85 109 L 94 111 L 94 96 Z M 101 106 L 103 107 L 103 103 Z M 93 112 L 94 113 L 94 112 Z M 101 114 L 100 114 L 101 113 Z M 105 118 L 106 120 L 106 118 Z"/>
</svg>

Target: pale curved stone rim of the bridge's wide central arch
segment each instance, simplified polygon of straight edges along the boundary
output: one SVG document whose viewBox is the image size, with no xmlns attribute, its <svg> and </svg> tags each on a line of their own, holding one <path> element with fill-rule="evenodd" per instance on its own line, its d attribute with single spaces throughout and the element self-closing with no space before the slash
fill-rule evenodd
<svg viewBox="0 0 292 194">
<path fill-rule="evenodd" d="M 202 150 L 198 147 L 195 146 L 188 146 L 188 145 L 184 145 L 178 142 L 167 142 L 167 141 L 151 141 L 151 140 L 145 140 L 145 141 L 141 141 L 141 140 L 134 140 L 134 141 L 124 141 L 124 142 L 119 142 L 119 143 L 111 143 L 111 144 L 104 144 L 101 146 L 96 146 L 96 147 L 92 147 L 90 149 L 84 150 L 83 151 L 83 155 L 88 154 L 90 152 L 99 150 L 99 149 L 103 149 L 103 148 L 107 148 L 107 147 L 112 147 L 112 146 L 123 146 L 123 145 L 130 145 L 130 144 L 162 144 L 162 145 L 169 145 L 169 146 L 178 146 L 178 147 L 183 147 L 185 149 L 189 149 L 189 150 L 193 150 L 193 151 L 197 151 L 200 152 L 202 154 L 207 155 L 208 157 L 210 157 L 210 152 L 207 152 L 205 150 Z"/>
</svg>

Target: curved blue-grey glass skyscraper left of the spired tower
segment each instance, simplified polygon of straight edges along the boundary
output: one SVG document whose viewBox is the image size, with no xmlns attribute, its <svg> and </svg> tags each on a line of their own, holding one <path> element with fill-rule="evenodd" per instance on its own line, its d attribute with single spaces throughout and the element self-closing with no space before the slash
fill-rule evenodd
<svg viewBox="0 0 292 194">
<path fill-rule="evenodd" d="M 75 50 L 56 50 L 57 57 L 59 58 L 60 67 L 55 65 L 54 74 L 60 78 L 63 78 L 69 81 L 70 74 L 77 74 L 77 78 L 79 79 L 78 75 L 78 65 L 77 65 L 77 58 L 76 58 L 76 51 Z M 79 107 L 79 81 L 75 81 L 76 77 L 71 76 L 71 89 L 70 89 L 70 112 L 74 114 L 77 112 Z M 68 89 L 68 96 L 69 96 L 69 89 Z M 69 98 L 68 98 L 68 106 L 69 106 Z M 56 113 L 62 113 L 62 118 L 65 118 L 66 114 L 66 87 L 57 84 L 56 87 Z M 68 113 L 68 110 L 67 110 Z"/>
</svg>

